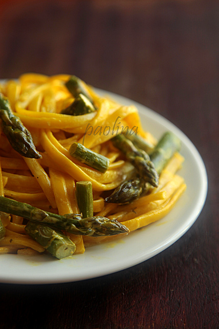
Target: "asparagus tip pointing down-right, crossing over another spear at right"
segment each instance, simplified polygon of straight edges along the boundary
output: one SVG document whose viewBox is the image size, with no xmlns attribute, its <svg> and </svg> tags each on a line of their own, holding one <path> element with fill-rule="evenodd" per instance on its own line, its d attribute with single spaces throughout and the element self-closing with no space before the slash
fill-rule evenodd
<svg viewBox="0 0 219 329">
<path fill-rule="evenodd" d="M 144 181 L 148 181 L 154 187 L 158 186 L 158 174 L 145 151 L 137 149 L 124 135 L 116 135 L 112 138 L 112 142 L 117 149 L 125 154 Z"/>
</svg>

